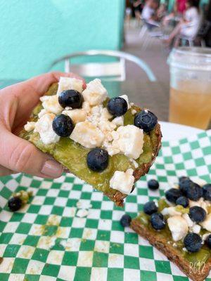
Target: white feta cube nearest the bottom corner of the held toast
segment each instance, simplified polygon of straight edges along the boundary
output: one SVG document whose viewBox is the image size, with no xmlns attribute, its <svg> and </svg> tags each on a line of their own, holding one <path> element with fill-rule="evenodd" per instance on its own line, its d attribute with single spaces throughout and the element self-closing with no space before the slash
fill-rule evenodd
<svg viewBox="0 0 211 281">
<path fill-rule="evenodd" d="M 129 194 L 134 186 L 133 169 L 127 171 L 115 171 L 113 177 L 110 179 L 110 188 L 119 190 L 124 194 Z"/>
</svg>

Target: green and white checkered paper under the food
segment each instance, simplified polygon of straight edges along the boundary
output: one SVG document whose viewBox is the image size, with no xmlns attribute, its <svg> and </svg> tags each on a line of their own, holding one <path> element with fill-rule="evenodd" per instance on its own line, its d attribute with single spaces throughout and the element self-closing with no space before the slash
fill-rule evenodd
<svg viewBox="0 0 211 281">
<path fill-rule="evenodd" d="M 210 182 L 210 174 L 211 131 L 188 140 L 164 141 L 150 173 L 136 183 L 124 209 L 71 174 L 54 181 L 24 174 L 1 178 L 0 280 L 188 280 L 119 221 L 125 212 L 136 216 L 145 202 L 163 195 L 179 176 L 200 176 Z M 151 178 L 158 179 L 160 190 L 147 189 Z M 32 190 L 34 196 L 12 213 L 8 198 L 18 190 Z M 87 217 L 77 217 L 77 202 L 89 209 Z"/>
</svg>

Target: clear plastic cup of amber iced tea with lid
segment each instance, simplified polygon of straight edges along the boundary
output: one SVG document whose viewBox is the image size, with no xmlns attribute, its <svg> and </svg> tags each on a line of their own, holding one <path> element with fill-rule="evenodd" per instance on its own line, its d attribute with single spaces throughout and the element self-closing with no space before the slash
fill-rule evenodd
<svg viewBox="0 0 211 281">
<path fill-rule="evenodd" d="M 211 49 L 174 48 L 170 64 L 170 122 L 207 129 L 211 119 Z"/>
</svg>

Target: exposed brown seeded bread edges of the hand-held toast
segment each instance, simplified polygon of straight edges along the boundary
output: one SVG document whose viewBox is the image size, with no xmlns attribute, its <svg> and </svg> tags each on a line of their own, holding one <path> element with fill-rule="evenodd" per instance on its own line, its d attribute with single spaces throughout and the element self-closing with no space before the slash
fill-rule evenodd
<svg viewBox="0 0 211 281">
<path fill-rule="evenodd" d="M 49 91 L 47 91 L 45 95 L 55 94 L 56 91 L 57 91 L 57 88 L 58 88 L 57 83 L 52 84 L 51 87 L 49 88 Z M 136 110 L 140 111 L 139 107 L 135 107 L 135 108 L 136 108 Z M 37 115 L 38 115 L 39 111 L 40 111 L 40 107 L 38 106 L 32 112 L 32 117 L 30 118 L 29 121 L 37 121 Z M 151 132 L 149 132 L 148 134 L 151 136 Z M 31 135 L 31 133 L 28 133 L 23 129 L 20 132 L 19 136 L 21 138 L 27 139 L 28 141 L 31 141 L 30 135 Z M 151 155 L 151 161 L 148 162 L 148 163 L 144 163 L 144 164 L 139 165 L 139 167 L 134 170 L 133 175 L 134 175 L 135 181 L 137 181 L 141 176 L 148 173 L 148 170 L 150 169 L 151 165 L 155 161 L 155 157 L 158 155 L 158 152 L 160 150 L 161 138 L 162 138 L 162 134 L 161 134 L 161 131 L 160 131 L 160 125 L 156 124 L 155 128 L 153 129 L 153 138 L 151 140 L 152 151 L 153 151 L 152 155 Z M 34 143 L 34 142 L 32 141 L 32 143 Z M 34 145 L 36 145 L 36 143 L 34 143 Z M 39 148 L 39 145 L 37 147 Z M 39 149 L 41 149 L 41 148 L 39 148 Z M 46 149 L 41 149 L 41 150 L 43 152 L 46 152 Z M 52 152 L 53 152 L 53 150 L 52 150 Z M 53 155 L 53 153 L 50 153 L 50 154 Z M 59 161 L 59 162 L 61 162 L 61 164 L 63 164 L 62 161 Z M 65 168 L 64 171 L 67 171 L 65 165 L 64 165 L 64 168 Z M 70 172 L 72 172 L 72 174 L 74 174 L 73 171 L 70 171 Z M 80 178 L 80 176 L 79 176 L 79 178 Z M 81 179 L 83 180 L 84 178 L 81 177 Z M 112 190 L 112 189 L 108 190 L 108 192 L 104 192 L 104 195 L 108 196 L 110 198 L 110 200 L 115 202 L 115 204 L 119 207 L 123 206 L 123 200 L 124 200 L 125 197 L 127 197 L 126 194 L 124 194 L 124 193 L 122 193 L 118 190 Z"/>
</svg>

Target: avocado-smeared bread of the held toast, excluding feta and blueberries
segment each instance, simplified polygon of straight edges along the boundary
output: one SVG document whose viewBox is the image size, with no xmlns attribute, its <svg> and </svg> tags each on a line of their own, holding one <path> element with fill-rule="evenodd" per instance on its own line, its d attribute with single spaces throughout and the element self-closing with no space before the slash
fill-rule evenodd
<svg viewBox="0 0 211 281">
<path fill-rule="evenodd" d="M 56 95 L 57 89 L 58 84 L 52 84 L 45 95 Z M 37 121 L 38 114 L 41 109 L 42 106 L 41 103 L 39 103 L 32 112 L 32 116 L 29 120 L 30 122 Z M 135 109 L 137 112 L 141 111 L 141 109 L 135 105 L 132 109 Z M 134 122 L 132 109 L 127 110 L 127 113 L 124 115 L 124 126 L 127 124 L 133 124 Z M 44 145 L 39 138 L 39 133 L 34 133 L 33 131 L 27 132 L 25 129 L 20 132 L 20 137 L 34 143 L 34 145 L 41 151 L 52 155 L 72 174 L 75 174 L 78 178 L 86 181 L 97 190 L 101 190 L 104 195 L 108 196 L 117 206 L 122 206 L 124 197 L 127 195 L 110 188 L 109 181 L 111 176 L 113 176 L 113 173 L 117 170 L 126 171 L 127 169 L 132 168 L 134 170 L 133 175 L 135 181 L 137 181 L 141 176 L 148 173 L 155 157 L 158 155 L 161 146 L 162 134 L 159 124 L 156 124 L 155 128 L 149 133 L 144 133 L 143 153 L 140 155 L 139 159 L 136 159 L 136 162 L 139 164 L 137 168 L 135 168 L 134 164 L 128 159 L 128 157 L 117 154 L 110 157 L 110 164 L 108 165 L 108 168 L 101 173 L 96 173 L 88 169 L 86 155 L 89 152 L 89 149 L 82 147 L 79 143 L 75 143 L 70 138 L 60 138 L 58 143 Z"/>
</svg>

